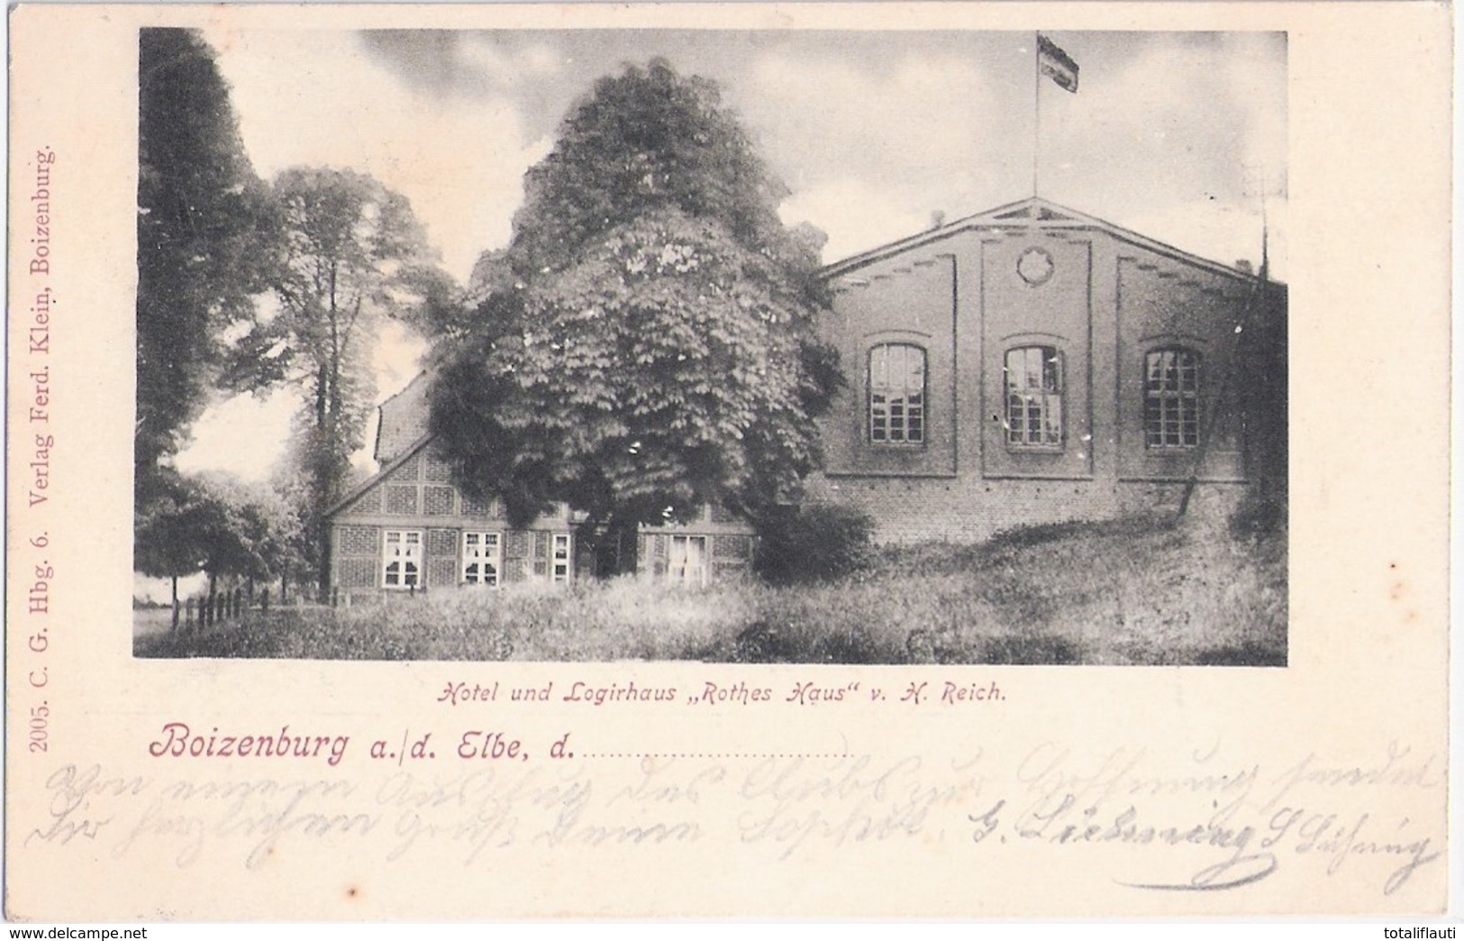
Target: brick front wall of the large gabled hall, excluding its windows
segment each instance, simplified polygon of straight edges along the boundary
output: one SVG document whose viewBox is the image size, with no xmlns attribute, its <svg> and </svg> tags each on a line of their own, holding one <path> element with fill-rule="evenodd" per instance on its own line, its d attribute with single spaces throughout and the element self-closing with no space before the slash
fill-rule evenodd
<svg viewBox="0 0 1464 941">
<path fill-rule="evenodd" d="M 1217 416 L 1190 512 L 1222 519 L 1246 478 L 1284 494 L 1284 293 L 1247 314 L 1252 284 L 1234 273 L 1099 227 L 1023 220 L 938 232 L 833 278 L 823 330 L 851 385 L 820 422 L 827 475 L 810 481 L 808 498 L 862 509 L 881 542 L 974 542 L 1023 525 L 1177 510 L 1177 481 L 1198 449 L 1154 449 L 1145 437 L 1145 358 L 1167 347 L 1199 355 L 1198 394 Z M 1026 257 L 1051 262 L 1045 277 L 1023 273 Z M 931 337 L 927 465 L 895 466 L 862 432 L 859 383 L 881 330 Z M 952 369 L 940 372 L 947 346 Z M 1013 443 L 1006 429 L 1006 358 L 1028 346 L 1056 352 L 1061 441 L 1053 446 Z M 1237 350 L 1246 369 L 1231 368 Z M 953 418 L 949 453 L 934 434 L 941 410 Z"/>
</svg>

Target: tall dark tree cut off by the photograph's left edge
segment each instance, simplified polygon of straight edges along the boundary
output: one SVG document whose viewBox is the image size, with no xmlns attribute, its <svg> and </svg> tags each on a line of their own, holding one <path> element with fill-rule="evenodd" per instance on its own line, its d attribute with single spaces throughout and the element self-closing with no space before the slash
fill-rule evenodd
<svg viewBox="0 0 1464 941">
<path fill-rule="evenodd" d="M 184 444 L 272 274 L 264 183 L 239 138 L 228 85 L 190 29 L 139 34 L 138 504 Z"/>
</svg>

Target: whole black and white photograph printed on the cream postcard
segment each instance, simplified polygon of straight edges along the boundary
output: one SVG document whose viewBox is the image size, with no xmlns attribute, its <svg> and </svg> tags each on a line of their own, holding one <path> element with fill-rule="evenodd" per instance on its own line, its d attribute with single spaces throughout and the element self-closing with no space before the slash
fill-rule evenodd
<svg viewBox="0 0 1464 941">
<path fill-rule="evenodd" d="M 1285 665 L 1284 34 L 138 67 L 139 657 Z"/>
</svg>

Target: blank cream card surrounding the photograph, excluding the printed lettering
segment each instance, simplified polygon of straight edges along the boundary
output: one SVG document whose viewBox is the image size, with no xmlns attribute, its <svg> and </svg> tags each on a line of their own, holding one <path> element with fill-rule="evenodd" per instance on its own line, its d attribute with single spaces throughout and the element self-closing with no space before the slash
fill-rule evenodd
<svg viewBox="0 0 1464 941">
<path fill-rule="evenodd" d="M 202 22 L 1287 31 L 1290 667 L 133 660 L 136 28 Z M 1413 3 L 13 10 L 7 915 L 1441 910 L 1449 57 L 1448 9 Z M 26 346 L 35 280 L 26 271 L 34 218 L 25 195 L 34 155 L 45 147 L 57 154 L 50 278 L 57 302 L 47 355 L 56 447 L 50 500 L 29 507 L 35 429 L 26 421 L 26 372 L 40 361 Z M 44 548 L 31 542 L 40 534 Z M 54 567 L 44 617 L 26 613 L 37 564 Z M 42 632 L 45 649 L 37 651 Z M 745 680 L 780 695 L 804 679 L 858 679 L 892 692 L 918 680 L 994 679 L 1006 699 L 979 709 L 886 702 L 821 711 L 436 702 L 455 680 L 631 679 L 678 687 Z M 48 748 L 40 753 L 29 750 L 28 718 L 42 702 Z M 351 743 L 335 767 L 151 758 L 148 745 L 167 721 L 240 733 L 288 723 L 348 734 Z M 447 743 L 471 728 L 509 731 L 539 753 L 568 731 L 584 752 L 698 758 L 536 759 L 464 781 L 463 770 L 442 759 L 382 768 L 366 755 L 372 739 L 395 746 L 432 731 Z M 845 752 L 861 758 L 722 758 Z M 1228 857 L 1215 847 L 974 840 L 1000 800 L 1012 812 L 1061 793 L 1121 794 L 1145 821 L 1180 831 L 1236 802 L 1230 819 L 1256 828 L 1250 852 L 1278 835 L 1287 813 L 1318 824 L 1335 815 L 1342 830 L 1363 821 L 1363 830 L 1351 843 L 1323 837 L 1309 852 L 1296 831 L 1281 834 L 1268 850 L 1277 853 L 1275 871 L 1227 891 L 1121 885 L 1189 879 Z M 1414 849 L 1391 852 L 1389 841 Z M 1419 865 L 1400 879 L 1410 860 Z M 1391 893 L 1389 879 L 1398 882 Z"/>
</svg>

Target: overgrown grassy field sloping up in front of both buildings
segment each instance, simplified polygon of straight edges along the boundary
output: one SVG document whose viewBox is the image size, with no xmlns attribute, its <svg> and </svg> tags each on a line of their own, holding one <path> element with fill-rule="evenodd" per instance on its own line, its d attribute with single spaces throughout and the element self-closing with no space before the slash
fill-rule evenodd
<svg viewBox="0 0 1464 941">
<path fill-rule="evenodd" d="M 1157 517 L 884 548 L 818 586 L 634 577 L 436 592 L 138 636 L 139 657 L 1284 665 L 1285 534 Z"/>
</svg>

